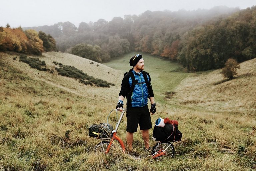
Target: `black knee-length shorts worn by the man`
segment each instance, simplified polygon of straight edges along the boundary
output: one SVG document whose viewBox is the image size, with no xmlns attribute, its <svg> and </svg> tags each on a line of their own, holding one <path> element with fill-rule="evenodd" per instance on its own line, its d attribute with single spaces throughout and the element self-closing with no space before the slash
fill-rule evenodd
<svg viewBox="0 0 256 171">
<path fill-rule="evenodd" d="M 148 106 L 144 107 L 127 107 L 127 132 L 137 132 L 138 124 L 140 130 L 152 128 L 150 112 Z"/>
</svg>

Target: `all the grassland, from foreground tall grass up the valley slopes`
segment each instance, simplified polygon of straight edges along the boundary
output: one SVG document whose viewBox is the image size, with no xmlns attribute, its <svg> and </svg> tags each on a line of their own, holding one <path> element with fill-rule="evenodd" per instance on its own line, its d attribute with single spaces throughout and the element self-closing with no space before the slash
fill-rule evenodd
<svg viewBox="0 0 256 171">
<path fill-rule="evenodd" d="M 183 133 L 182 142 L 174 145 L 174 158 L 153 160 L 143 151 L 140 131 L 134 135 L 135 158 L 121 153 L 117 144 L 115 153 L 95 156 L 93 149 L 99 140 L 87 135 L 89 125 L 106 122 L 109 111 L 115 108 L 132 54 L 107 64 L 114 69 L 65 53 L 39 57 L 47 67 L 54 68 L 53 61 L 61 62 L 114 83 L 110 88 L 83 85 L 56 71 L 51 74 L 32 69 L 18 58 L 13 60 L 15 56 L 0 53 L 1 170 L 256 169 L 255 91 L 250 90 L 255 85 L 255 60 L 240 64 L 237 79 L 220 83 L 218 70 L 183 73 L 175 63 L 144 55 L 145 71 L 154 80 L 157 101 L 152 122 L 158 117 L 176 119 Z M 215 93 L 220 88 L 223 93 Z M 233 90 L 237 91 L 231 94 Z M 173 96 L 165 93 L 172 91 Z M 211 101 L 206 101 L 208 98 Z M 237 98 L 240 106 L 232 106 L 236 103 L 232 98 Z M 110 122 L 115 125 L 115 114 Z M 123 140 L 125 127 L 126 118 L 118 132 Z M 154 144 L 151 140 L 150 145 Z"/>
</svg>

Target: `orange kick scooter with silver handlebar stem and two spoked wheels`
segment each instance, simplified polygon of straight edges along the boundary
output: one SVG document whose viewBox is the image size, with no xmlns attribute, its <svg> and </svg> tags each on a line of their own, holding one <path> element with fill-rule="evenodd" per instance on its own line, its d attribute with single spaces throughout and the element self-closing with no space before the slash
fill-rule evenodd
<svg viewBox="0 0 256 171">
<path fill-rule="evenodd" d="M 118 110 L 112 110 L 112 111 L 117 112 Z M 114 140 L 117 140 L 119 142 L 123 152 L 125 152 L 125 146 L 124 146 L 124 143 L 123 143 L 122 139 L 116 135 L 118 127 L 119 127 L 119 125 L 120 125 L 120 123 L 123 119 L 125 111 L 126 111 L 126 109 L 122 109 L 121 116 L 119 118 L 119 121 L 116 125 L 115 130 L 112 131 L 111 137 L 109 137 L 108 139 L 102 139 L 101 138 L 101 142 L 96 145 L 95 154 L 99 154 L 99 153 L 107 154 L 109 152 L 110 147 L 111 147 Z M 156 141 L 156 139 L 154 137 L 152 137 L 152 139 Z M 172 145 L 173 142 L 178 142 L 178 141 L 171 141 L 171 142 L 170 141 L 162 141 L 162 142 L 158 141 L 153 147 L 151 157 L 153 159 L 156 158 L 156 157 L 159 157 L 159 156 L 163 156 L 163 155 L 172 157 L 174 155 L 174 147 Z"/>
</svg>

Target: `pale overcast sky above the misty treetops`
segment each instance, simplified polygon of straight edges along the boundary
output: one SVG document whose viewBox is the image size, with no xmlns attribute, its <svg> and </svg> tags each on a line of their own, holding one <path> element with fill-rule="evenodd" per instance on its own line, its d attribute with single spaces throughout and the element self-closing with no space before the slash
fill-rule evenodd
<svg viewBox="0 0 256 171">
<path fill-rule="evenodd" d="M 215 6 L 245 9 L 256 5 L 256 0 L 1 0 L 0 26 L 32 27 L 70 21 L 95 22 L 102 18 L 140 15 L 150 11 L 178 11 L 211 9 Z"/>
</svg>

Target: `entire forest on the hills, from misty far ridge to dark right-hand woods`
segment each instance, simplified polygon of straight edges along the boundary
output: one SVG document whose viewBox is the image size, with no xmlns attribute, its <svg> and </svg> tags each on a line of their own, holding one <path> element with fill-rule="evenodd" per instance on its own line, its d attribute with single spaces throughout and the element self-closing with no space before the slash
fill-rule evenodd
<svg viewBox="0 0 256 171">
<path fill-rule="evenodd" d="M 72 52 L 84 46 L 99 55 L 89 59 L 102 62 L 132 50 L 147 52 L 180 62 L 188 71 L 221 68 L 229 58 L 238 62 L 256 54 L 256 7 L 214 7 L 196 11 L 145 11 L 111 21 L 70 22 L 34 29 L 51 34 L 58 50 Z M 87 54 L 85 54 L 87 55 Z M 100 56 L 100 58 L 99 58 Z"/>
</svg>

